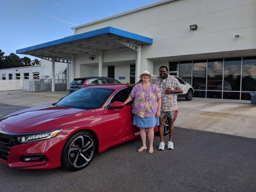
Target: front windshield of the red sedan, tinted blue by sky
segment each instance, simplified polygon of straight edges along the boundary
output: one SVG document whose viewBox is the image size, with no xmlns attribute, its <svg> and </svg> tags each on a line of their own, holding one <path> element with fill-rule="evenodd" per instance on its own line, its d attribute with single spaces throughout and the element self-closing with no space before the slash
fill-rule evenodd
<svg viewBox="0 0 256 192">
<path fill-rule="evenodd" d="M 85 87 L 65 96 L 56 105 L 69 108 L 100 108 L 109 98 L 113 89 Z"/>
</svg>

